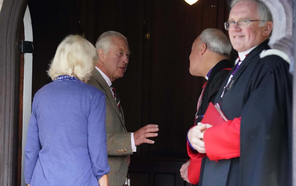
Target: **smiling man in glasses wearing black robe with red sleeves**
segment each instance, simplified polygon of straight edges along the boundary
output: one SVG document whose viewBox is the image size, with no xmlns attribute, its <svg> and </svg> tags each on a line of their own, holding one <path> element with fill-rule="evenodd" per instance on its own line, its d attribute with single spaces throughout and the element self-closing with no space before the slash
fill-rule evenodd
<svg viewBox="0 0 296 186">
<path fill-rule="evenodd" d="M 199 186 L 291 185 L 289 57 L 268 46 L 273 23 L 264 3 L 231 7 L 225 29 L 239 57 L 215 99 L 228 121 L 188 132 L 190 157 L 206 157 Z"/>
</svg>

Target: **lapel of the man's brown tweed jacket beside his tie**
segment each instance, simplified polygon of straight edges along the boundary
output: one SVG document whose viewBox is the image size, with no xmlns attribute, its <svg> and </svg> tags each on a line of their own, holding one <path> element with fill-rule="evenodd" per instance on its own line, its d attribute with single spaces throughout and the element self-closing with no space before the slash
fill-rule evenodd
<svg viewBox="0 0 296 186">
<path fill-rule="evenodd" d="M 107 82 L 105 81 L 105 79 L 102 77 L 102 75 L 99 73 L 98 70 L 95 70 L 95 72 L 94 72 L 94 78 L 97 80 L 97 82 L 106 91 L 106 96 L 110 100 L 110 102 L 112 103 L 112 106 L 115 109 L 117 115 L 119 116 L 119 118 L 120 118 L 120 120 L 121 120 L 121 122 L 123 124 L 123 127 L 125 129 L 123 116 L 120 115 L 120 111 L 119 111 L 119 108 L 117 107 L 116 101 L 114 99 L 114 95 L 112 94 L 112 92 L 110 90 L 110 87 L 108 86 Z"/>
</svg>

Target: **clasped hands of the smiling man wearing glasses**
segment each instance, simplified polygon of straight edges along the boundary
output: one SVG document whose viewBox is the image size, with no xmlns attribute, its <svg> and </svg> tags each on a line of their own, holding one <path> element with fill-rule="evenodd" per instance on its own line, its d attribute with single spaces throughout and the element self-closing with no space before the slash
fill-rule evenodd
<svg viewBox="0 0 296 186">
<path fill-rule="evenodd" d="M 198 123 L 188 131 L 188 141 L 195 150 L 199 153 L 206 153 L 205 142 L 203 141 L 203 134 L 206 129 L 212 127 L 210 124 Z"/>
</svg>

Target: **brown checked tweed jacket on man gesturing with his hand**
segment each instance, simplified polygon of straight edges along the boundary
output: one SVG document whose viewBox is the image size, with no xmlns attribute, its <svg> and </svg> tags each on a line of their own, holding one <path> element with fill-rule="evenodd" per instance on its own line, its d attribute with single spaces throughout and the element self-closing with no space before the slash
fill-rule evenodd
<svg viewBox="0 0 296 186">
<path fill-rule="evenodd" d="M 94 75 L 87 83 L 106 94 L 107 153 L 110 166 L 108 182 L 109 186 L 122 186 L 128 170 L 127 155 L 133 153 L 131 133 L 125 128 L 122 108 L 117 107 L 110 87 L 98 70 L 94 70 Z"/>
</svg>

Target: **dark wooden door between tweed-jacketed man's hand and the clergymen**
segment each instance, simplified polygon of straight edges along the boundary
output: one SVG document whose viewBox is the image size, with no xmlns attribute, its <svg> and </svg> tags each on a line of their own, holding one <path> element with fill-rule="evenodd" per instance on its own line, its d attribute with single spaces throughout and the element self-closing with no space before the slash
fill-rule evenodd
<svg viewBox="0 0 296 186">
<path fill-rule="evenodd" d="M 189 159 L 186 134 L 204 82 L 190 75 L 189 55 L 202 30 L 223 29 L 228 7 L 217 0 L 199 0 L 192 6 L 177 0 L 144 2 L 144 31 L 150 38 L 143 43 L 142 125 L 155 123 L 160 131 L 155 144 L 141 145 L 132 155 L 131 183 L 189 185 L 179 170 Z"/>
</svg>

